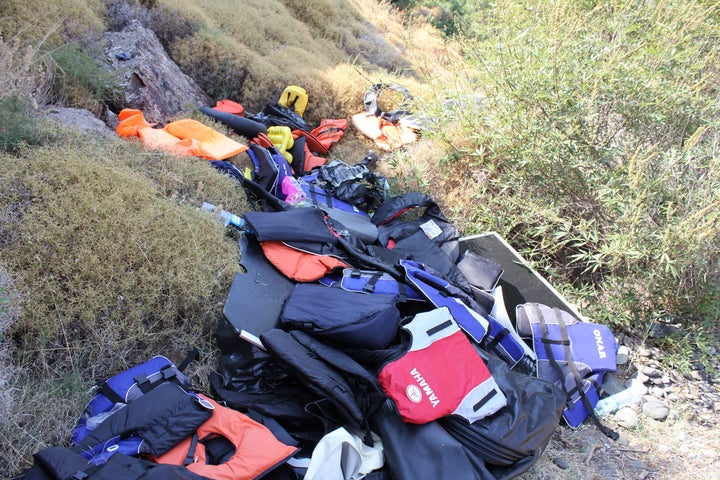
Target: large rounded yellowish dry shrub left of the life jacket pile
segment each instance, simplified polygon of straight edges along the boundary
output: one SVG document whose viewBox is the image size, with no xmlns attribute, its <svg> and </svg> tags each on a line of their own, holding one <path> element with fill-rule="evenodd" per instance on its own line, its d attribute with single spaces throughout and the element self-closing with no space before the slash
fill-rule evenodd
<svg viewBox="0 0 720 480">
<path fill-rule="evenodd" d="M 6 227 L 13 233 L 5 238 L 17 240 L 2 256 L 26 279 L 18 283 L 25 314 L 13 333 L 24 355 L 42 359 L 38 368 L 113 370 L 148 352 L 206 342 L 214 328 L 238 251 L 181 187 L 201 196 L 210 174 L 227 179 L 201 164 L 205 175 L 165 170 L 175 185 L 163 188 L 123 164 L 135 161 L 121 156 L 133 150 L 70 146 L 60 155 L 39 149 L 23 162 L 2 160 L 3 206 L 32 192 L 19 221 Z M 110 153 L 114 160 L 103 160 Z"/>
</svg>

